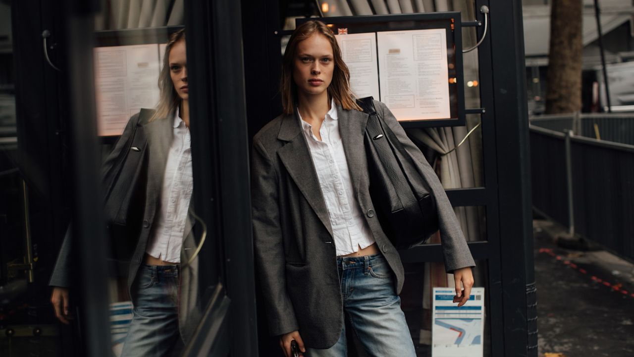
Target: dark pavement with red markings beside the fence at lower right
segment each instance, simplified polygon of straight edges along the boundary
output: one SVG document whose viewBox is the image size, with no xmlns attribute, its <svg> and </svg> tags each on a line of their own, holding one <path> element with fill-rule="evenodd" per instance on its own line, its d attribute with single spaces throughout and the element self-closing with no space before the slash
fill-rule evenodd
<svg viewBox="0 0 634 357">
<path fill-rule="evenodd" d="M 560 248 L 548 220 L 533 227 L 540 356 L 634 356 L 634 265 Z"/>
</svg>

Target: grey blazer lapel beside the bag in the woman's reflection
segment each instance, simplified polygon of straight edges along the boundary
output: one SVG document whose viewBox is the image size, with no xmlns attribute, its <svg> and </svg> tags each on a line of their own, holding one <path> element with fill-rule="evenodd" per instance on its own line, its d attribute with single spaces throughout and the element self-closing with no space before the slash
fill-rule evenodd
<svg viewBox="0 0 634 357">
<path fill-rule="evenodd" d="M 163 184 L 169 147 L 172 145 L 172 140 L 174 139 L 172 119 L 173 118 L 158 119 L 146 124 L 144 127 L 150 148 L 147 195 L 149 199 L 152 199 L 155 205 L 158 202 Z"/>
</svg>

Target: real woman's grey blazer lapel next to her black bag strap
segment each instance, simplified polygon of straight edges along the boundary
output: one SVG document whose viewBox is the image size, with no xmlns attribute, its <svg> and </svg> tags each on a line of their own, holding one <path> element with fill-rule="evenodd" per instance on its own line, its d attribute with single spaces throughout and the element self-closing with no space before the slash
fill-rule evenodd
<svg viewBox="0 0 634 357">
<path fill-rule="evenodd" d="M 359 111 L 344 111 L 337 106 L 339 118 L 339 133 L 344 144 L 344 153 L 348 162 L 350 178 L 353 181 L 354 193 L 359 197 L 359 184 L 361 179 L 367 177 L 367 162 L 363 138 L 365 126 L 368 123 L 368 114 Z"/>
</svg>

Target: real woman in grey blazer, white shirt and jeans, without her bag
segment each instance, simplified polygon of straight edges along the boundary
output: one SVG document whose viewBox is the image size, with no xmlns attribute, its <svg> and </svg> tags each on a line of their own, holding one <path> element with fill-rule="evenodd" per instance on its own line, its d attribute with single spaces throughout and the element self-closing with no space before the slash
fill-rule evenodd
<svg viewBox="0 0 634 357">
<path fill-rule="evenodd" d="M 351 95 L 349 71 L 325 24 L 295 30 L 280 85 L 284 113 L 257 133 L 252 150 L 254 241 L 269 330 L 286 356 L 292 340 L 311 357 L 345 356 L 345 316 L 368 355 L 415 356 L 398 297 L 403 264 L 368 192 L 368 115 Z M 375 106 L 436 198 L 445 266 L 462 306 L 475 264 L 453 208 L 389 109 Z"/>
</svg>

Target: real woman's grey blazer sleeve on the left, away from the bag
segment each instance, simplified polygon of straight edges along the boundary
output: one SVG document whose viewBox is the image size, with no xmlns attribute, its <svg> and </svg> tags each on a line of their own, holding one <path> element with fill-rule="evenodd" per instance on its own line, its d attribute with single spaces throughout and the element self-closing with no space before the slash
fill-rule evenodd
<svg viewBox="0 0 634 357">
<path fill-rule="evenodd" d="M 278 179 L 268 152 L 254 138 L 251 155 L 251 210 L 256 267 L 271 335 L 299 330 L 288 297 L 280 227 Z"/>
</svg>

